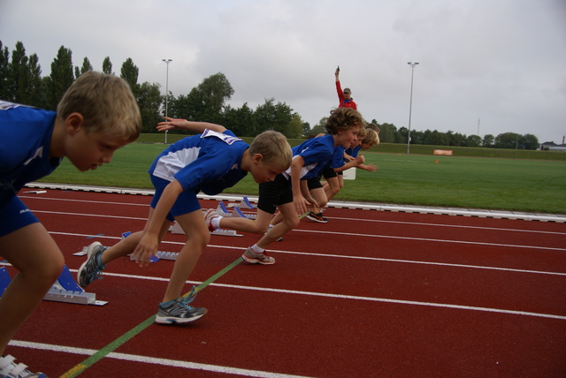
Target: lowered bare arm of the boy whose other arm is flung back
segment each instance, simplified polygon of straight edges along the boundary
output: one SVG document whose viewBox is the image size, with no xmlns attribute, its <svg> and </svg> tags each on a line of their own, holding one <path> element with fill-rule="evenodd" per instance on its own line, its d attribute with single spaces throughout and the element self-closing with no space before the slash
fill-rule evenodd
<svg viewBox="0 0 566 378">
<path fill-rule="evenodd" d="M 153 215 L 148 220 L 143 230 L 143 236 L 140 243 L 135 247 L 134 257 L 135 261 L 144 267 L 149 264 L 149 258 L 152 254 L 157 253 L 157 246 L 159 245 L 159 231 L 165 222 L 165 217 L 169 214 L 173 203 L 183 192 L 183 187 L 179 181 L 173 180 L 164 189 L 161 198 L 157 202 L 157 206 Z"/>
</svg>

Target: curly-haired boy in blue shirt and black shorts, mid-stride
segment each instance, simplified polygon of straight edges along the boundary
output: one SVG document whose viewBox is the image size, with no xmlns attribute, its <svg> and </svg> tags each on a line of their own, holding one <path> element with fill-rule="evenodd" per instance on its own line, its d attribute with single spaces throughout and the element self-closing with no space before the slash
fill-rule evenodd
<svg viewBox="0 0 566 378">
<path fill-rule="evenodd" d="M 357 110 L 333 110 L 325 125 L 328 134 L 305 140 L 294 147 L 291 167 L 279 174 L 274 181 L 259 185 L 255 220 L 223 217 L 210 209 L 205 215 L 210 230 L 226 228 L 263 234 L 268 231 L 270 223 L 276 224 L 241 256 L 244 261 L 252 264 L 274 264 L 275 259 L 265 253 L 265 249 L 293 230 L 300 221 L 299 215 L 306 213 L 308 208 L 323 207 L 326 204 L 324 197 L 317 203 L 310 196 L 308 180 L 317 178 L 318 173 L 331 163 L 335 148 L 340 148 L 343 153 L 344 147 L 349 147 L 356 140 L 357 132 L 363 125 L 365 122 Z M 279 214 L 273 218 L 277 208 Z"/>
</svg>

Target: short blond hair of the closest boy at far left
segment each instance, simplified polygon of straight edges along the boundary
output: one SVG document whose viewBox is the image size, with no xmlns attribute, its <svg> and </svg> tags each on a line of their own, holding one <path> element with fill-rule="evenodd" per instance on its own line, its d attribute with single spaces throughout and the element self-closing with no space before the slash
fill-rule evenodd
<svg viewBox="0 0 566 378">
<path fill-rule="evenodd" d="M 72 113 L 84 117 L 88 133 L 105 132 L 134 141 L 142 131 L 142 116 L 126 80 L 89 71 L 80 75 L 57 105 L 57 117 L 65 120 Z"/>
</svg>

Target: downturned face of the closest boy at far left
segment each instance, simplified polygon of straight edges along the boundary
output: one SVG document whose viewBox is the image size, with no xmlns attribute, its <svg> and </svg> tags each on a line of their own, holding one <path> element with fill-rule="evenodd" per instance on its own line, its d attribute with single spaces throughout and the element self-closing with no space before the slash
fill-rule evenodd
<svg viewBox="0 0 566 378">
<path fill-rule="evenodd" d="M 96 170 L 103 163 L 110 163 L 114 151 L 124 147 L 128 140 L 103 132 L 86 133 L 80 128 L 65 141 L 65 156 L 80 171 Z"/>
</svg>

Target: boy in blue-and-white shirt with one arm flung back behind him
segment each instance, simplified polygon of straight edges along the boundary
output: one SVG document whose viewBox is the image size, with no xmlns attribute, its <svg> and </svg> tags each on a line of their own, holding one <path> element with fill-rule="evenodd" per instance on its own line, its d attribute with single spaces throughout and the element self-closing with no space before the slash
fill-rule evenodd
<svg viewBox="0 0 566 378">
<path fill-rule="evenodd" d="M 205 308 L 188 306 L 195 291 L 181 296 L 183 286 L 195 268 L 203 249 L 210 241 L 196 194 L 221 193 L 235 185 L 248 172 L 257 183 L 272 181 L 291 164 L 291 147 L 280 132 L 262 132 L 248 145 L 224 126 L 166 117 L 158 125 L 160 131 L 186 129 L 201 134 L 187 137 L 166 148 L 149 168 L 156 194 L 149 209 L 143 231 L 136 232 L 108 249 L 96 242 L 88 248 L 88 259 L 77 274 L 79 284 L 86 287 L 100 275 L 106 264 L 120 256 L 134 253 L 140 266 L 149 263 L 173 220 L 187 234 L 187 243 L 180 250 L 169 284 L 159 304 L 156 322 L 186 323 L 206 314 Z"/>
</svg>

